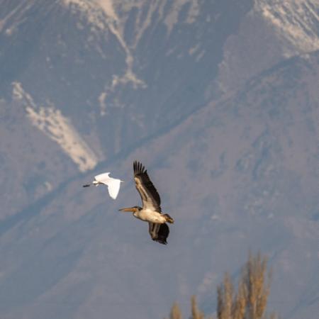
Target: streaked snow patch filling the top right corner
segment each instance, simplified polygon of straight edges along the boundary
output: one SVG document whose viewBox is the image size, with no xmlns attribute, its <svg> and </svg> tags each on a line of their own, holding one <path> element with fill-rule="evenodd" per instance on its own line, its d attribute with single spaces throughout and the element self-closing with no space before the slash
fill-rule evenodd
<svg viewBox="0 0 319 319">
<path fill-rule="evenodd" d="M 319 49 L 319 0 L 255 0 L 254 11 L 271 23 L 279 37 L 298 52 Z M 287 52 L 287 55 L 295 52 Z"/>
</svg>

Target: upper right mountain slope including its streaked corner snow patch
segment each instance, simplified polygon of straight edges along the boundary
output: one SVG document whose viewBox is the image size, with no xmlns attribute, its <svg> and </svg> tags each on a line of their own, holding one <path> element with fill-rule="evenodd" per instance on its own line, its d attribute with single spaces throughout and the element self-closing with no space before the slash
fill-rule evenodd
<svg viewBox="0 0 319 319">
<path fill-rule="evenodd" d="M 240 85 L 279 61 L 319 50 L 318 0 L 255 0 L 237 33 L 224 46 L 216 86 Z"/>
</svg>

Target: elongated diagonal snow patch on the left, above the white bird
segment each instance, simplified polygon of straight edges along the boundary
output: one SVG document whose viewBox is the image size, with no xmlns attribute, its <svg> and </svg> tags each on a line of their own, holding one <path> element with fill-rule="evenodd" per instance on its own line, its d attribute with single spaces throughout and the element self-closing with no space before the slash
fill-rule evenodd
<svg viewBox="0 0 319 319">
<path fill-rule="evenodd" d="M 77 164 L 79 171 L 94 169 L 99 162 L 93 150 L 82 140 L 68 118 L 62 115 L 55 106 L 38 107 L 32 96 L 24 91 L 21 83 L 13 82 L 13 99 L 26 106 L 27 116 L 31 123 L 48 138 L 57 142 L 62 150 Z"/>
</svg>

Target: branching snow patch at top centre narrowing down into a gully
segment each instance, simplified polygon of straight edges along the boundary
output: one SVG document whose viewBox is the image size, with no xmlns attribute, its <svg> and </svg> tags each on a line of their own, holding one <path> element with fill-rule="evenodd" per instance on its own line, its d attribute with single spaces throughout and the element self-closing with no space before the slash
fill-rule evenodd
<svg viewBox="0 0 319 319">
<path fill-rule="evenodd" d="M 142 35 L 148 27 L 152 26 L 152 17 L 158 12 L 158 19 L 163 20 L 167 27 L 167 33 L 171 33 L 179 19 L 179 13 L 187 9 L 184 23 L 194 23 L 199 15 L 198 0 L 136 0 L 136 1 L 114 1 L 114 0 L 61 0 L 61 3 L 73 13 L 81 14 L 86 21 L 94 26 L 96 32 L 108 29 L 118 40 L 125 52 L 125 63 L 127 65 L 124 74 L 114 74 L 113 82 L 106 88 L 106 94 L 113 92 L 117 86 L 131 84 L 134 89 L 145 89 L 147 84 L 133 71 L 134 50 L 138 46 Z M 164 6 L 169 6 L 167 15 L 164 17 Z M 125 40 L 125 28 L 132 9 L 137 10 L 134 32 L 130 43 Z M 145 10 L 146 9 L 146 10 Z M 146 12 L 146 14 L 145 14 Z M 198 60 L 201 57 L 198 58 Z"/>
</svg>

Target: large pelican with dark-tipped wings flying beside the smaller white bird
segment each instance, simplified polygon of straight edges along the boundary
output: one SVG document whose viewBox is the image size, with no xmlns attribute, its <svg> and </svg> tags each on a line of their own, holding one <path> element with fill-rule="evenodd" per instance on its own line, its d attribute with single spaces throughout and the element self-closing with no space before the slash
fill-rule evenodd
<svg viewBox="0 0 319 319">
<path fill-rule="evenodd" d="M 169 227 L 166 223 L 174 223 L 168 214 L 162 214 L 161 198 L 155 189 L 147 170 L 140 162 L 133 163 L 135 187 L 142 198 L 142 207 L 133 206 L 122 208 L 119 211 L 133 212 L 133 216 L 148 223 L 148 232 L 152 240 L 167 244 Z"/>
</svg>

